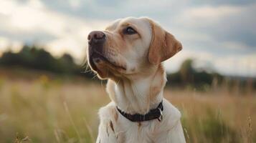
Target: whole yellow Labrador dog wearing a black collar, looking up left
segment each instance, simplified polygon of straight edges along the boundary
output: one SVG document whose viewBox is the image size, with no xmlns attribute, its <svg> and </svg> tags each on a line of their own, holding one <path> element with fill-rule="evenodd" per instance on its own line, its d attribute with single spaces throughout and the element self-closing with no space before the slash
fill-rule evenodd
<svg viewBox="0 0 256 143">
<path fill-rule="evenodd" d="M 108 79 L 111 99 L 98 113 L 96 142 L 186 142 L 181 113 L 163 98 L 162 62 L 181 51 L 181 43 L 146 17 L 118 19 L 87 40 L 87 61 Z"/>
</svg>

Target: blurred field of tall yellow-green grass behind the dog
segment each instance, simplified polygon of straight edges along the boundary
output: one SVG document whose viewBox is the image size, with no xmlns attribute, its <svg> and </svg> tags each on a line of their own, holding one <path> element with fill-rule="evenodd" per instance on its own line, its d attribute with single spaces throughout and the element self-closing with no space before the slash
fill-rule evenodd
<svg viewBox="0 0 256 143">
<path fill-rule="evenodd" d="M 0 142 L 95 141 L 98 109 L 110 102 L 105 85 L 6 74 L 0 73 Z M 187 142 L 256 142 L 255 92 L 166 89 L 165 97 L 182 113 Z"/>
</svg>

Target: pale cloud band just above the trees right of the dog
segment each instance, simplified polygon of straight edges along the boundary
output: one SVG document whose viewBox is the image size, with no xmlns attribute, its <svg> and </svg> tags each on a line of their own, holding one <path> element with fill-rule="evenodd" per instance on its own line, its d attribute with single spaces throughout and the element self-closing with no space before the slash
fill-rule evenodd
<svg viewBox="0 0 256 143">
<path fill-rule="evenodd" d="M 180 51 L 164 65 L 169 72 L 178 71 L 185 59 L 194 59 L 195 64 L 211 67 L 212 70 L 224 75 L 256 77 L 256 53 L 238 56 L 217 56 L 202 51 Z"/>
</svg>

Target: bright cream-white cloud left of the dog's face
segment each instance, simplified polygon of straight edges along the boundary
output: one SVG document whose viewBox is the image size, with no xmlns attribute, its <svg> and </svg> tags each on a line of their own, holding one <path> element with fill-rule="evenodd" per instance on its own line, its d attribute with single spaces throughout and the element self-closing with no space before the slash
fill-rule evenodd
<svg viewBox="0 0 256 143">
<path fill-rule="evenodd" d="M 47 51 L 54 56 L 68 52 L 76 59 L 82 59 L 85 56 L 87 34 L 93 29 L 103 29 L 103 25 L 108 22 L 87 21 L 61 14 L 47 9 L 39 0 L 22 4 L 6 0 L 2 4 L 0 19 L 4 22 L 0 24 L 0 34 L 20 43 L 36 42 L 46 46 Z"/>
</svg>

